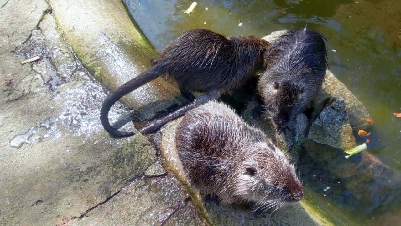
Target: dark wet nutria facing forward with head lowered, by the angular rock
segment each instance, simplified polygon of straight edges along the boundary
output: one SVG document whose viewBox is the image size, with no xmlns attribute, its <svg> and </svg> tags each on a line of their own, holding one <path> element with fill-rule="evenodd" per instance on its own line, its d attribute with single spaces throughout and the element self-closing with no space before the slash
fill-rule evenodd
<svg viewBox="0 0 401 226">
<path fill-rule="evenodd" d="M 281 35 L 265 51 L 265 71 L 257 90 L 264 110 L 278 127 L 304 113 L 318 94 L 328 69 L 323 39 L 305 26 Z"/>
</svg>

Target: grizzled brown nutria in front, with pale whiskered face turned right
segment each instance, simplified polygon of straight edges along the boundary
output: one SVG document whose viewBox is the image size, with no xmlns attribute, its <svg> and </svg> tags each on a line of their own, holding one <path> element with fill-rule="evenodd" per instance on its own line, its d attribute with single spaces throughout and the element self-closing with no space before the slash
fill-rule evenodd
<svg viewBox="0 0 401 226">
<path fill-rule="evenodd" d="M 209 101 L 186 112 L 175 142 L 188 182 L 204 197 L 256 210 L 277 210 L 303 197 L 294 164 L 223 103 Z"/>
</svg>

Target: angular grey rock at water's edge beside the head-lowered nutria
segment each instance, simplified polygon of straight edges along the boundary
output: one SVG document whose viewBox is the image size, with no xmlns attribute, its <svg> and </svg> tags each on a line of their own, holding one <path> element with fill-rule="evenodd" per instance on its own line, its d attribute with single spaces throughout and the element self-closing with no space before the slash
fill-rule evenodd
<svg viewBox="0 0 401 226">
<path fill-rule="evenodd" d="M 310 127 L 308 139 L 342 150 L 356 146 L 344 100 L 328 97 L 326 106 Z"/>
</svg>

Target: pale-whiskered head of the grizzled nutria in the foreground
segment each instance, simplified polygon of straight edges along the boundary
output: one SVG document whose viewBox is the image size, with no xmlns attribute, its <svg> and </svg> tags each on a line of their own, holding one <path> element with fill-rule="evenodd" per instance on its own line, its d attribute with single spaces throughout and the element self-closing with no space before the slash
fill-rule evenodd
<svg viewBox="0 0 401 226">
<path fill-rule="evenodd" d="M 274 211 L 302 199 L 303 187 L 294 164 L 271 142 L 247 144 L 238 158 L 234 195 Z"/>
</svg>

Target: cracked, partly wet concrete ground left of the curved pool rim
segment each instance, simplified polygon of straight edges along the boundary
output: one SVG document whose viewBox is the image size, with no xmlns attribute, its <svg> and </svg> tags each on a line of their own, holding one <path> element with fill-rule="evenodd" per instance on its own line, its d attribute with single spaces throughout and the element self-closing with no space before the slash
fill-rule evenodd
<svg viewBox="0 0 401 226">
<path fill-rule="evenodd" d="M 44 0 L 0 9 L 1 224 L 202 222 L 146 137 L 116 140 L 103 130 L 107 90 L 77 61 L 51 12 Z M 128 114 L 116 103 L 110 118 Z"/>
</svg>

